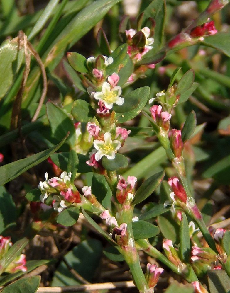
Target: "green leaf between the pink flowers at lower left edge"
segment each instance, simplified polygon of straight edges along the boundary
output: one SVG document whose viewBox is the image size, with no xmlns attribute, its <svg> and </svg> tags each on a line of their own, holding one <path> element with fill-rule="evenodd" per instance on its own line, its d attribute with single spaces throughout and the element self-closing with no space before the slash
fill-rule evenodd
<svg viewBox="0 0 230 293">
<path fill-rule="evenodd" d="M 1 268 L 7 268 L 8 265 L 11 264 L 18 255 L 21 254 L 23 248 L 25 248 L 28 242 L 29 241 L 27 238 L 22 238 L 13 244 L 13 246 L 4 255 L 4 258 L 0 260 L 0 272 Z"/>
</svg>

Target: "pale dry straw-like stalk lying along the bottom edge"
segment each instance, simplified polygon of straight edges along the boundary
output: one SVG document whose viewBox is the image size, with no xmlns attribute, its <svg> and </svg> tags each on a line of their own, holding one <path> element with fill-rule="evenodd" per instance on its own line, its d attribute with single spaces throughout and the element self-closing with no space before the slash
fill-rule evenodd
<svg viewBox="0 0 230 293">
<path fill-rule="evenodd" d="M 65 292 L 80 292 L 80 291 L 93 291 L 103 289 L 117 289 L 117 288 L 133 288 L 135 285 L 133 281 L 124 282 L 109 282 L 109 283 L 97 283 L 86 284 L 76 286 L 63 286 L 63 287 L 39 287 L 37 293 L 65 293 Z"/>
</svg>

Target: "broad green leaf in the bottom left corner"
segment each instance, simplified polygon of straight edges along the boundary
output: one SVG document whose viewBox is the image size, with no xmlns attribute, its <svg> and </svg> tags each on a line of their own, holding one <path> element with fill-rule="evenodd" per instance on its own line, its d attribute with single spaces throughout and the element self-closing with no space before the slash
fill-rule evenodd
<svg viewBox="0 0 230 293">
<path fill-rule="evenodd" d="M 17 280 L 13 284 L 6 286 L 2 293 L 35 293 L 38 290 L 41 277 L 33 276 Z"/>
</svg>

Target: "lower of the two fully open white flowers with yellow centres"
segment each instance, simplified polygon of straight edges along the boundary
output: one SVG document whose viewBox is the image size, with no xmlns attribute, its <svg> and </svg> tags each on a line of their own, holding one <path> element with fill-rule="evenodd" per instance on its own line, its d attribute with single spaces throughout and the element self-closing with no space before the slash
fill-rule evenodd
<svg viewBox="0 0 230 293">
<path fill-rule="evenodd" d="M 95 154 L 96 161 L 99 161 L 103 156 L 112 160 L 115 158 L 115 151 L 121 147 L 121 142 L 119 140 L 112 141 L 111 133 L 106 132 L 104 134 L 104 141 L 94 140 L 94 147 L 97 149 L 97 153 Z"/>
</svg>

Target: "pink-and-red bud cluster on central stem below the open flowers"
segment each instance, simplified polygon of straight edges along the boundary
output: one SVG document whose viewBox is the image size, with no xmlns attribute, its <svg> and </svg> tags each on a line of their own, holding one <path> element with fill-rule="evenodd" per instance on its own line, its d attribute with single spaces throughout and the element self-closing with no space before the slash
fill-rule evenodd
<svg viewBox="0 0 230 293">
<path fill-rule="evenodd" d="M 134 185 L 137 178 L 134 176 L 128 176 L 127 181 L 119 175 L 119 181 L 116 189 L 116 198 L 120 204 L 123 204 L 128 197 L 128 200 L 133 199 Z"/>
</svg>

